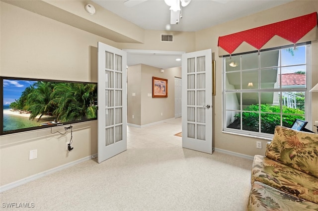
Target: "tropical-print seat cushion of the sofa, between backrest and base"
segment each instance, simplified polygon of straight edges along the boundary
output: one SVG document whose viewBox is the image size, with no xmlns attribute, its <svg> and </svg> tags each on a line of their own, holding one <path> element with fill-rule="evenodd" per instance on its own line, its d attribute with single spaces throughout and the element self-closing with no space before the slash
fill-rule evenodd
<svg viewBox="0 0 318 211">
<path fill-rule="evenodd" d="M 264 156 L 254 156 L 251 182 L 254 181 L 318 204 L 318 178 Z"/>
</svg>

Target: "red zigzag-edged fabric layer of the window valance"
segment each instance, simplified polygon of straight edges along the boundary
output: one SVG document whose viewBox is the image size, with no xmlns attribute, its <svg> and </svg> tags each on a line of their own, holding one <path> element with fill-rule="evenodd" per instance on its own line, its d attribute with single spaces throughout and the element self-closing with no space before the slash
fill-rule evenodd
<svg viewBox="0 0 318 211">
<path fill-rule="evenodd" d="M 260 50 L 275 35 L 296 44 L 317 26 L 317 12 L 219 37 L 218 46 L 232 54 L 243 42 Z"/>
</svg>

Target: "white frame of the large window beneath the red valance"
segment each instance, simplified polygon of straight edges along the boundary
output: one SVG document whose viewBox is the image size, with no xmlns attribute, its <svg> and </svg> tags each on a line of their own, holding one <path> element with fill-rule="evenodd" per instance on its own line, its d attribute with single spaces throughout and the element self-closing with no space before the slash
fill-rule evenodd
<svg viewBox="0 0 318 211">
<path fill-rule="evenodd" d="M 312 95 L 309 92 L 310 87 L 311 87 L 311 74 L 312 74 L 312 53 L 311 53 L 311 42 L 307 42 L 307 43 L 302 43 L 302 44 L 297 44 L 298 46 L 306 46 L 306 88 L 302 89 L 303 92 L 305 92 L 305 119 L 308 122 L 312 122 L 312 116 L 310 115 L 312 113 L 312 106 L 311 106 L 311 102 L 312 102 Z M 275 49 L 284 49 L 284 48 L 293 48 L 293 45 L 290 46 L 282 46 L 282 47 L 278 47 Z M 266 50 L 262 50 L 262 51 L 269 51 L 269 50 L 275 50 L 275 49 L 266 49 Z M 257 52 L 257 51 L 256 51 Z M 255 53 L 255 52 L 249 52 L 249 53 Z M 234 54 L 232 56 L 235 55 L 240 55 L 240 54 L 246 54 L 246 53 L 239 53 L 239 54 Z M 229 56 L 229 55 L 227 55 Z M 253 137 L 253 138 L 260 138 L 260 139 L 266 139 L 266 140 L 271 140 L 273 137 L 273 134 L 268 134 L 268 133 L 261 133 L 261 132 L 254 132 L 254 131 L 247 131 L 247 130 L 241 130 L 241 129 L 233 129 L 233 128 L 227 128 L 227 109 L 226 109 L 226 94 L 230 93 L 230 92 L 235 92 L 237 90 L 232 90 L 232 91 L 227 91 L 226 90 L 226 57 L 227 56 L 223 56 L 222 58 L 222 110 L 223 110 L 223 116 L 222 116 L 222 120 L 223 120 L 223 129 L 222 132 L 223 133 L 230 133 L 230 134 L 234 134 L 234 135 L 240 135 L 240 136 L 247 136 L 247 137 Z M 260 55 L 259 55 L 260 57 Z M 259 59 L 258 57 L 258 59 Z M 279 65 L 278 68 L 282 67 L 281 63 Z M 260 67 L 259 67 L 260 68 Z M 240 78 L 240 82 L 242 82 L 242 79 Z M 283 89 L 275 89 L 273 91 L 281 91 Z M 293 89 L 291 89 L 293 90 Z M 265 91 L 265 90 L 259 90 L 260 92 Z M 268 91 L 268 90 L 266 90 Z M 297 91 L 300 91 L 297 89 Z M 311 124 L 307 124 L 306 128 L 308 128 L 309 130 L 312 130 L 312 125 Z"/>
</svg>

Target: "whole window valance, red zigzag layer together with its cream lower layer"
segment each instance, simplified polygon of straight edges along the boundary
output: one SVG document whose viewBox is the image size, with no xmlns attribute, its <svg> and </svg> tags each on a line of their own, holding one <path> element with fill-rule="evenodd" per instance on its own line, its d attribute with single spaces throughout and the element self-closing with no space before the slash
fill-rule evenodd
<svg viewBox="0 0 318 211">
<path fill-rule="evenodd" d="M 318 39 L 317 12 L 219 37 L 219 56 Z"/>
</svg>

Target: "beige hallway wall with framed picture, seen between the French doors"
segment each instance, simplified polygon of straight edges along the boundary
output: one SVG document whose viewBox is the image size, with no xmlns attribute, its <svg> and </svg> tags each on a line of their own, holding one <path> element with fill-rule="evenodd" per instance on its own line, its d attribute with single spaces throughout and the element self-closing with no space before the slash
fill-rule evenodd
<svg viewBox="0 0 318 211">
<path fill-rule="evenodd" d="M 167 98 L 148 96 L 152 96 L 153 77 L 168 80 Z M 181 77 L 181 67 L 165 69 L 164 73 L 160 68 L 145 64 L 128 67 L 128 123 L 143 126 L 174 118 L 174 77 Z"/>
</svg>

